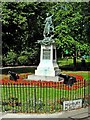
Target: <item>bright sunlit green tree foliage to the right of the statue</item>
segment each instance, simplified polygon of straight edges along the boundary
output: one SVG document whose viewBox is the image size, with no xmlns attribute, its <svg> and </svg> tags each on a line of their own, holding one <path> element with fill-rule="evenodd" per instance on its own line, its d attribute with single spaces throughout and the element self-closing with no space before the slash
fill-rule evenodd
<svg viewBox="0 0 90 120">
<path fill-rule="evenodd" d="M 72 47 L 79 48 L 83 53 L 85 52 L 84 54 L 87 54 L 90 50 L 90 48 L 85 47 L 90 46 L 90 44 L 88 44 L 86 33 L 87 27 L 84 27 L 87 11 L 83 6 L 85 8 L 88 6 L 87 10 L 89 10 L 88 3 L 58 3 L 54 6 L 56 43 L 58 49 L 61 49 L 64 54 L 66 49 L 72 53 Z M 85 14 L 83 14 L 83 11 Z M 88 30 L 90 29 L 88 28 Z"/>
</svg>

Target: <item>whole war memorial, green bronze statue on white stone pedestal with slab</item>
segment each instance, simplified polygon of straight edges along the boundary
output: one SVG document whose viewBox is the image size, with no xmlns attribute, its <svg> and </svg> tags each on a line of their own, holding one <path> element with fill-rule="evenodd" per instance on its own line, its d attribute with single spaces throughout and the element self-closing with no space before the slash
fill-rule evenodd
<svg viewBox="0 0 90 120">
<path fill-rule="evenodd" d="M 57 50 L 54 40 L 54 26 L 52 22 L 53 15 L 49 16 L 45 20 L 45 27 L 43 31 L 43 40 L 38 40 L 38 44 L 41 45 L 40 63 L 35 70 L 35 75 L 29 75 L 28 79 L 35 80 L 51 80 L 59 81 L 60 69 L 57 64 Z"/>
</svg>

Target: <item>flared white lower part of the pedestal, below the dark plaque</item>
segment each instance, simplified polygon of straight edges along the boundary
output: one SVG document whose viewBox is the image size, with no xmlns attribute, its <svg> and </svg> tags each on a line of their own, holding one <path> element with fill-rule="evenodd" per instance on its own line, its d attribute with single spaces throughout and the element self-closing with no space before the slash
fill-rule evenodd
<svg viewBox="0 0 90 120">
<path fill-rule="evenodd" d="M 42 60 L 39 66 L 35 70 L 35 75 L 38 76 L 57 76 L 60 74 L 60 69 L 56 63 L 56 61 L 51 60 Z"/>
</svg>

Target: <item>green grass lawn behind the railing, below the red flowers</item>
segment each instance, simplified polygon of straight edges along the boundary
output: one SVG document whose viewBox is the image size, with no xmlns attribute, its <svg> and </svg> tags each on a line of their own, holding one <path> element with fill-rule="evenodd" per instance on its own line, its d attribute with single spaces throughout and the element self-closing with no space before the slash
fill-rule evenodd
<svg viewBox="0 0 90 120">
<path fill-rule="evenodd" d="M 12 98 L 15 98 L 16 100 L 12 100 Z M 16 112 L 27 111 L 29 113 L 62 111 L 63 106 L 60 102 L 80 98 L 84 98 L 84 87 L 69 91 L 53 87 L 42 88 L 37 86 L 3 85 L 2 101 L 10 104 L 3 105 L 2 111 L 15 110 Z M 41 100 L 41 102 L 39 100 Z M 14 105 L 15 102 L 21 103 L 21 106 Z M 40 106 L 39 103 L 42 103 L 42 105 Z"/>
</svg>

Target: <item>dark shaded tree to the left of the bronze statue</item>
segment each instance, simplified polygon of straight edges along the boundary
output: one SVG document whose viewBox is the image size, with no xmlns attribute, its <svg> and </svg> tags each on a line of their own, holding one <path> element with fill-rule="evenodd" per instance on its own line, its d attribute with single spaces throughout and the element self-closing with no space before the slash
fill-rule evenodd
<svg viewBox="0 0 90 120">
<path fill-rule="evenodd" d="M 43 39 L 43 22 L 45 13 L 49 9 L 48 6 L 47 3 L 33 2 L 2 3 L 2 49 L 4 56 L 7 56 L 10 50 L 20 55 L 22 51 L 28 51 L 29 48 L 39 49 L 36 41 Z"/>
</svg>

